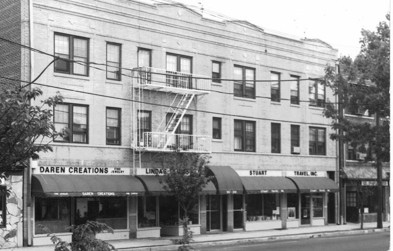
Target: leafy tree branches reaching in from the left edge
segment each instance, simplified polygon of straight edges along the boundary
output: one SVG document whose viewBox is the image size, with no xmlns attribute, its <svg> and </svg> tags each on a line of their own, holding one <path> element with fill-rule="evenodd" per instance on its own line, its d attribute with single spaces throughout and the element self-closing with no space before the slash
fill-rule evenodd
<svg viewBox="0 0 393 251">
<path fill-rule="evenodd" d="M 62 96 L 57 94 L 41 101 L 40 106 L 32 106 L 31 100 L 40 95 L 38 88 L 0 94 L 0 178 L 28 166 L 30 158 L 39 158 L 38 153 L 52 151 L 49 143 L 63 135 L 55 131 L 51 109 Z"/>
</svg>

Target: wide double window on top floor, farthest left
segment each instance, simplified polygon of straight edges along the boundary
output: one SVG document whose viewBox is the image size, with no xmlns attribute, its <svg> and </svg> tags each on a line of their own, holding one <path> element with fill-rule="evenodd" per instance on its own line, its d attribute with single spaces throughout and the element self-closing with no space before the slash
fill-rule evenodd
<svg viewBox="0 0 393 251">
<path fill-rule="evenodd" d="M 89 39 L 72 35 L 55 33 L 55 56 L 75 60 L 55 61 L 55 72 L 75 75 L 88 75 Z"/>
</svg>

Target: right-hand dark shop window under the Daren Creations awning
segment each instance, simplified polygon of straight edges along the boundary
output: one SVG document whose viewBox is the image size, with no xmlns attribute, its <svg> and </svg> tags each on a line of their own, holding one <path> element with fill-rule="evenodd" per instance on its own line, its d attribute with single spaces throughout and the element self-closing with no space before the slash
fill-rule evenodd
<svg viewBox="0 0 393 251">
<path fill-rule="evenodd" d="M 86 221 L 105 223 L 113 229 L 127 228 L 126 197 L 86 197 L 76 198 L 75 224 Z"/>
</svg>

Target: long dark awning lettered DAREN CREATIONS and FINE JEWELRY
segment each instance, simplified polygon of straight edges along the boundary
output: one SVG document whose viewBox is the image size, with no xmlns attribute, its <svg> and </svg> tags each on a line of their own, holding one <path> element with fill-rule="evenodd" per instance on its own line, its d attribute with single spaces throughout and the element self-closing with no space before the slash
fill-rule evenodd
<svg viewBox="0 0 393 251">
<path fill-rule="evenodd" d="M 44 197 L 137 196 L 145 189 L 129 175 L 50 175 L 33 174 L 31 193 Z"/>
</svg>

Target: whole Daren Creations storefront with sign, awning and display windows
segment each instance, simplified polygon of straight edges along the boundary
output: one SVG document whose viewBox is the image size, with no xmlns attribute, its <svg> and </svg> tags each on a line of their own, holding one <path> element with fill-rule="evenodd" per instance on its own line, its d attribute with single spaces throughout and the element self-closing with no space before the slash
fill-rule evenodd
<svg viewBox="0 0 393 251">
<path fill-rule="evenodd" d="M 40 225 L 63 241 L 71 241 L 65 228 L 86 221 L 105 223 L 114 234 L 101 233 L 103 240 L 128 239 L 135 232 L 137 196 L 143 184 L 129 175 L 128 168 L 40 166 L 32 174 L 33 245 L 51 244 Z"/>
</svg>

